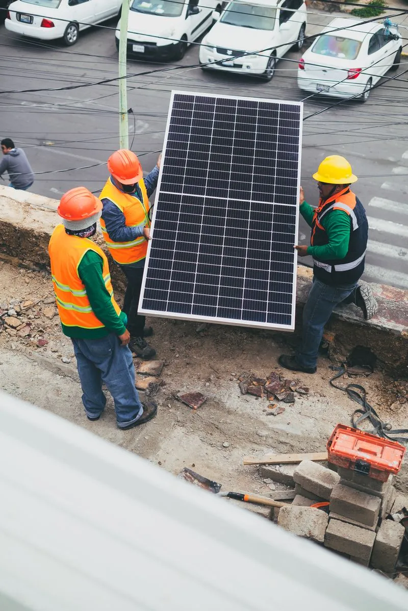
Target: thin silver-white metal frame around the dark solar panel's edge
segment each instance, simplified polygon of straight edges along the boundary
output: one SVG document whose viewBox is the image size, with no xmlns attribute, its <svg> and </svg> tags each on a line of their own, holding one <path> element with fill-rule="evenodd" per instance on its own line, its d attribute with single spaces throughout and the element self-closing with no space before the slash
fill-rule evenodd
<svg viewBox="0 0 408 611">
<path fill-rule="evenodd" d="M 172 119 L 172 109 L 173 109 L 173 99 L 176 95 L 190 95 L 190 96 L 199 96 L 201 98 L 216 98 L 217 99 L 228 99 L 228 100 L 242 100 L 242 101 L 256 101 L 260 103 L 276 103 L 276 104 L 288 104 L 291 106 L 296 106 L 300 110 L 300 120 L 299 120 L 299 148 L 298 148 L 298 166 L 297 166 L 297 183 L 296 183 L 296 192 L 297 192 L 297 202 L 296 202 L 296 218 L 295 218 L 295 229 L 294 229 L 294 241 L 297 239 L 297 234 L 299 230 L 299 189 L 301 183 L 300 177 L 300 169 L 301 169 L 301 148 L 302 148 L 302 112 L 303 112 L 303 103 L 302 102 L 293 102 L 287 100 L 272 100 L 268 98 L 253 98 L 253 97 L 241 97 L 234 95 L 218 95 L 211 93 L 201 93 L 201 92 L 191 92 L 191 91 L 179 91 L 172 90 L 170 96 L 170 104 L 169 104 L 169 114 L 167 115 L 167 124 L 166 124 L 166 132 L 164 135 L 164 144 L 162 150 L 162 162 L 159 172 L 158 186 L 156 190 L 156 202 L 159 200 L 159 196 L 161 193 L 161 179 L 162 179 L 162 169 L 166 164 L 166 147 L 167 147 L 167 139 L 169 136 L 169 128 L 170 128 L 170 120 Z M 167 191 L 164 191 L 167 193 Z M 182 195 L 182 194 L 180 194 Z M 249 203 L 252 199 L 249 200 Z M 148 243 L 147 256 L 144 268 L 144 274 L 142 279 L 142 288 L 140 290 L 140 298 L 139 298 L 139 307 L 138 312 L 142 315 L 147 316 L 159 316 L 162 318 L 174 318 L 184 321 L 200 321 L 206 323 L 219 323 L 219 324 L 230 324 L 233 326 L 242 326 L 242 327 L 252 327 L 255 329 L 277 329 L 280 331 L 294 331 L 294 319 L 295 319 L 295 310 L 296 310 L 296 271 L 297 271 L 297 251 L 294 250 L 294 258 L 293 258 L 293 290 L 292 290 L 292 301 L 291 301 L 291 324 L 279 324 L 279 323 L 268 323 L 265 321 L 250 321 L 250 320 L 242 320 L 238 318 L 222 318 L 220 316 L 203 316 L 203 315 L 194 315 L 194 314 L 186 314 L 180 312 L 164 312 L 162 310 L 151 310 L 143 307 L 144 301 L 144 293 L 145 293 L 145 284 L 147 280 L 148 274 L 148 265 L 150 252 L 152 247 L 152 242 L 155 240 L 155 219 L 156 213 L 158 211 L 158 206 L 155 205 L 153 207 L 153 215 L 151 218 L 151 229 L 150 235 L 152 240 Z"/>
</svg>

